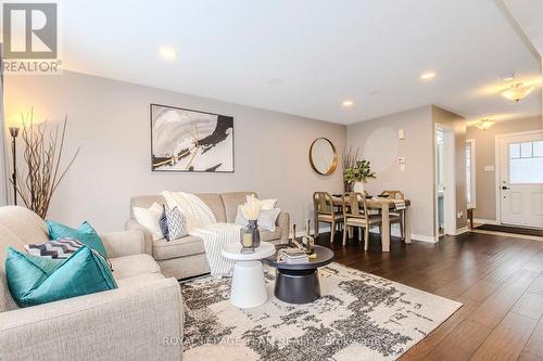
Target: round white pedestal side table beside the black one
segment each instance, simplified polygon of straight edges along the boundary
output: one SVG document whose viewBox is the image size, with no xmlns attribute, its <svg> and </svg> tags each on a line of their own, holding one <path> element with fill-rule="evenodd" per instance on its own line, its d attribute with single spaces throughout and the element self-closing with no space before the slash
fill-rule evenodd
<svg viewBox="0 0 543 361">
<path fill-rule="evenodd" d="M 230 302 L 239 308 L 261 306 L 268 299 L 261 259 L 275 255 L 272 243 L 261 242 L 253 254 L 242 254 L 241 245 L 232 243 L 223 249 L 223 256 L 236 260 Z"/>
</svg>

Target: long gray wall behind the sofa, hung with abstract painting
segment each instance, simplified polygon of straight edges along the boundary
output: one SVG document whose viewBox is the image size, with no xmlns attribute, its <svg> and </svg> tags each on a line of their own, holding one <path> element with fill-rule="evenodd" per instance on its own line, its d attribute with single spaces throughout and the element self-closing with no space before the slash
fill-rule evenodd
<svg viewBox="0 0 543 361">
<path fill-rule="evenodd" d="M 175 173 L 150 170 L 149 104 L 160 103 L 235 117 L 235 173 Z M 68 224 L 87 219 L 101 231 L 121 230 L 129 198 L 164 190 L 256 191 L 278 198 L 303 227 L 314 191 L 342 191 L 341 169 L 316 175 L 307 153 L 327 137 L 340 151 L 346 127 L 184 95 L 143 86 L 65 72 L 62 76 L 7 77 L 5 114 L 13 123 L 34 106 L 37 119 L 68 115 L 65 155 L 80 155 L 54 195 L 49 217 Z"/>
</svg>

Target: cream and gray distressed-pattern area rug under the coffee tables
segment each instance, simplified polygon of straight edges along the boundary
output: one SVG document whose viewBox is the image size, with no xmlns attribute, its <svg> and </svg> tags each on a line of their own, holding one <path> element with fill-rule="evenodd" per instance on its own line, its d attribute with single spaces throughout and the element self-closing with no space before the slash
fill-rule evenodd
<svg viewBox="0 0 543 361">
<path fill-rule="evenodd" d="M 244 310 L 228 300 L 230 279 L 181 284 L 184 360 L 395 360 L 462 306 L 338 263 L 319 272 L 323 297 L 289 305 L 265 267 L 270 297 Z"/>
</svg>

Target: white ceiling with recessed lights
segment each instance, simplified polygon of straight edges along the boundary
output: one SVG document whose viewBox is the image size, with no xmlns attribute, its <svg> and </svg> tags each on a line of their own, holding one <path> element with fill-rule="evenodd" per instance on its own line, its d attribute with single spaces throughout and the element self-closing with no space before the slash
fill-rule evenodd
<svg viewBox="0 0 543 361">
<path fill-rule="evenodd" d="M 540 87 L 518 104 L 498 95 L 505 73 L 541 83 L 541 61 L 494 0 L 61 7 L 64 66 L 75 72 L 341 124 L 428 104 L 468 119 L 541 114 Z M 161 59 L 161 46 L 178 57 Z M 427 70 L 437 77 L 421 81 Z"/>
</svg>

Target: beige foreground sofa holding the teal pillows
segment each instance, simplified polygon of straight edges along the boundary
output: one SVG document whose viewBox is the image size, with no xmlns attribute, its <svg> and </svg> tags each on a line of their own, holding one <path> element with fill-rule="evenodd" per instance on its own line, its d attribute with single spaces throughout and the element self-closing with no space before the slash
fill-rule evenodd
<svg viewBox="0 0 543 361">
<path fill-rule="evenodd" d="M 41 218 L 0 207 L 0 360 L 180 360 L 179 283 L 165 279 L 140 232 L 101 234 L 118 288 L 18 308 L 5 279 L 7 247 L 48 241 Z"/>
</svg>

